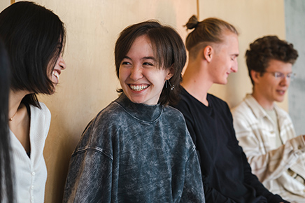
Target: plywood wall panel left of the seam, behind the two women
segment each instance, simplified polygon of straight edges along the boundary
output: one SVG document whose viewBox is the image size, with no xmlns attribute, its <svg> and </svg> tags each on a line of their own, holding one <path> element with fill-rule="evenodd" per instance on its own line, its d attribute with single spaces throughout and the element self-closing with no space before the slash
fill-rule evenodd
<svg viewBox="0 0 305 203">
<path fill-rule="evenodd" d="M 66 24 L 62 71 L 57 92 L 42 96 L 52 113 L 45 144 L 48 181 L 45 202 L 62 202 L 71 153 L 87 123 L 118 94 L 113 49 L 118 34 L 127 25 L 157 19 L 187 32 L 182 25 L 196 13 L 196 1 L 183 0 L 36 0 L 53 10 Z"/>
</svg>

